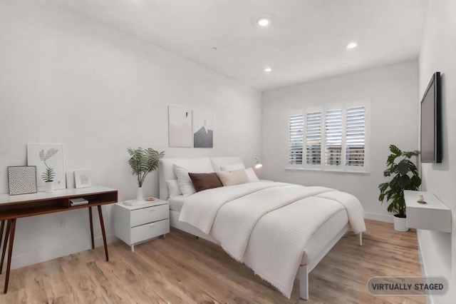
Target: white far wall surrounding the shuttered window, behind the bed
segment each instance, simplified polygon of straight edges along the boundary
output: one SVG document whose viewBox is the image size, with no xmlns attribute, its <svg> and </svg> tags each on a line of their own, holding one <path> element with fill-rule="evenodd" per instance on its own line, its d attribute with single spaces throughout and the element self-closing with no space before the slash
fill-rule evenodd
<svg viewBox="0 0 456 304">
<path fill-rule="evenodd" d="M 278 181 L 337 188 L 357 196 L 366 216 L 392 221 L 378 201 L 390 144 L 418 147 L 418 63 L 383 66 L 263 93 L 264 175 Z M 371 173 L 286 171 L 289 111 L 328 103 L 371 100 Z"/>
</svg>

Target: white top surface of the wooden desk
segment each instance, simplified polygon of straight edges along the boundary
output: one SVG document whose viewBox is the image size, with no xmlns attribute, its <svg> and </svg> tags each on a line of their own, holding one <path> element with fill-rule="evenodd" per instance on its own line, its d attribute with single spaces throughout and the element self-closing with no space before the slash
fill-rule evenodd
<svg viewBox="0 0 456 304">
<path fill-rule="evenodd" d="M 45 192 L 38 192 L 38 193 L 29 193 L 29 194 L 19 194 L 18 196 L 10 196 L 9 194 L 0 194 L 0 205 L 1 204 L 9 204 L 9 203 L 16 203 L 16 202 L 24 202 L 24 201 L 45 201 L 52 198 L 63 198 L 68 196 L 84 196 L 89 194 L 95 193 L 106 193 L 116 191 L 115 189 L 102 187 L 102 186 L 94 186 L 89 188 L 73 188 L 73 189 L 62 189 L 62 190 L 54 190 L 53 193 L 45 193 Z"/>
</svg>

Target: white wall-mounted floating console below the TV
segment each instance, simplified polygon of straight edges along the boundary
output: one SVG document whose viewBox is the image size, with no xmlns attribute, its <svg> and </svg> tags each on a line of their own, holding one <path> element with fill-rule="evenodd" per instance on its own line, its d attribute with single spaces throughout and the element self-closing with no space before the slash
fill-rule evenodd
<svg viewBox="0 0 456 304">
<path fill-rule="evenodd" d="M 426 203 L 418 203 L 420 195 Z M 408 228 L 451 233 L 451 209 L 433 193 L 404 191 Z"/>
</svg>

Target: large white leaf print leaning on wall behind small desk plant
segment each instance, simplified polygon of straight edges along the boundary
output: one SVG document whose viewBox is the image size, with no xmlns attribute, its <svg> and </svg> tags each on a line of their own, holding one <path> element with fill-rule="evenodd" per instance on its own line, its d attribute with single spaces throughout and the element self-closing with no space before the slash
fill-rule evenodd
<svg viewBox="0 0 456 304">
<path fill-rule="evenodd" d="M 44 189 L 44 181 L 41 176 L 47 168 L 52 168 L 53 188 L 65 189 L 65 171 L 63 170 L 63 145 L 59 144 L 27 144 L 27 164 L 36 166 L 36 183 L 38 190 Z"/>
</svg>

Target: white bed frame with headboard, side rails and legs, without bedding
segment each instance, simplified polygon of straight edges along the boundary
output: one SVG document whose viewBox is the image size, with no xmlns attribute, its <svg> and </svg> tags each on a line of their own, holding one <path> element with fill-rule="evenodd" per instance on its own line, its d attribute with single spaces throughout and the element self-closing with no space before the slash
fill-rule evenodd
<svg viewBox="0 0 456 304">
<path fill-rule="evenodd" d="M 166 185 L 166 181 L 175 179 L 175 173 L 172 169 L 172 164 L 175 163 L 178 166 L 183 166 L 190 171 L 209 173 L 214 171 L 220 171 L 220 166 L 231 165 L 234 163 L 241 163 L 242 159 L 239 157 L 216 157 L 216 158 L 162 158 L 159 166 L 160 175 L 160 198 L 167 200 L 169 198 L 169 192 Z M 180 213 L 176 211 L 170 211 L 170 226 L 179 230 L 190 233 L 199 238 L 209 240 L 209 242 L 220 245 L 220 243 L 212 238 L 211 235 L 203 233 L 201 230 L 191 226 L 190 224 L 179 221 Z M 309 273 L 315 268 L 318 263 L 325 257 L 325 255 L 333 248 L 334 245 L 350 230 L 350 225 L 347 224 L 342 228 L 337 235 L 329 241 L 328 244 L 321 250 L 315 258 L 312 258 L 308 265 L 299 266 L 296 278 L 299 280 L 299 297 L 304 300 L 309 299 Z M 363 245 L 363 233 L 359 233 L 359 245 Z"/>
</svg>

